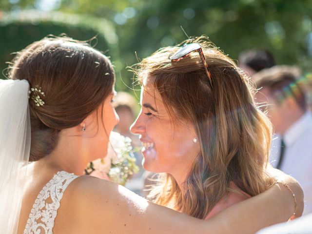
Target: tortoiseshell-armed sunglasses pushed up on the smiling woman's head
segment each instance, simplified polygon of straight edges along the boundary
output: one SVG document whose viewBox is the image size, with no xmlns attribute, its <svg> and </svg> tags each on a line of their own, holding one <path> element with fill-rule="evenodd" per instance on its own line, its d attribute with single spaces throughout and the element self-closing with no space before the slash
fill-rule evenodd
<svg viewBox="0 0 312 234">
<path fill-rule="evenodd" d="M 207 62 L 205 60 L 203 50 L 201 49 L 201 46 L 198 43 L 191 43 L 191 44 L 184 45 L 175 54 L 171 55 L 169 57 L 169 59 L 171 59 L 171 61 L 179 61 L 181 59 L 186 58 L 189 54 L 191 54 L 194 51 L 198 52 L 200 60 L 202 61 L 203 65 L 205 67 L 205 71 L 206 71 L 208 80 L 210 82 L 210 85 L 211 85 L 211 87 L 213 87 L 213 84 L 211 81 L 211 74 L 208 70 L 208 65 L 207 65 Z"/>
</svg>

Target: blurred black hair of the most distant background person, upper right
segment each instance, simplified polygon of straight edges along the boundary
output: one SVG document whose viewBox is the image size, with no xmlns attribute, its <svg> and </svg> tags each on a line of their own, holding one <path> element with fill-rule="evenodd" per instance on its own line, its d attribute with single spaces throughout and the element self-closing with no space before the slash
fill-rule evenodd
<svg viewBox="0 0 312 234">
<path fill-rule="evenodd" d="M 253 49 L 243 51 L 238 56 L 238 66 L 249 76 L 275 65 L 273 55 L 267 50 Z"/>
</svg>

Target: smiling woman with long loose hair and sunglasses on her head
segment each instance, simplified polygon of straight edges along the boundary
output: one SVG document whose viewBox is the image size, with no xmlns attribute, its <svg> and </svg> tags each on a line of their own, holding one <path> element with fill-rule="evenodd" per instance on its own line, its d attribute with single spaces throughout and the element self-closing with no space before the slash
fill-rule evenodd
<svg viewBox="0 0 312 234">
<path fill-rule="evenodd" d="M 208 219 L 275 183 L 267 170 L 272 126 L 232 59 L 207 37 L 181 45 L 134 68 L 142 108 L 132 132 L 140 135 L 143 167 L 162 173 L 150 199 Z"/>
</svg>

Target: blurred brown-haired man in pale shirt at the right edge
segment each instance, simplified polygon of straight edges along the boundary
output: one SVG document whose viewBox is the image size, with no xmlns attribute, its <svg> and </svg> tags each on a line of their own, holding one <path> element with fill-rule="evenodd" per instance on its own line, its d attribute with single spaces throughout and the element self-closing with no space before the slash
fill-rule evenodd
<svg viewBox="0 0 312 234">
<path fill-rule="evenodd" d="M 270 161 L 299 181 L 305 193 L 304 214 L 308 214 L 312 212 L 312 114 L 300 74 L 297 67 L 274 66 L 253 79 L 259 89 L 256 102 L 266 107 L 276 133 Z"/>
</svg>

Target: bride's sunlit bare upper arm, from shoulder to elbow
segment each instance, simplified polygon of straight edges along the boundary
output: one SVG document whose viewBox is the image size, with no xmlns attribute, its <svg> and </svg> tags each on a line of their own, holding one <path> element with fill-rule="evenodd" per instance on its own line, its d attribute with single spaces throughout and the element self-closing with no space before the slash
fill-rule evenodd
<svg viewBox="0 0 312 234">
<path fill-rule="evenodd" d="M 92 176 L 80 177 L 71 188 L 75 209 L 72 233 L 221 233 L 206 221 L 151 203 L 123 186 Z"/>
</svg>

